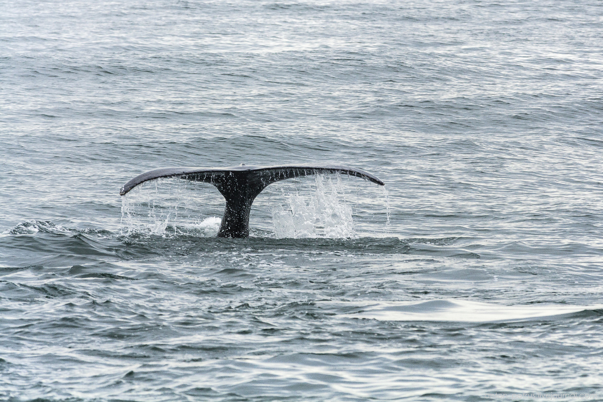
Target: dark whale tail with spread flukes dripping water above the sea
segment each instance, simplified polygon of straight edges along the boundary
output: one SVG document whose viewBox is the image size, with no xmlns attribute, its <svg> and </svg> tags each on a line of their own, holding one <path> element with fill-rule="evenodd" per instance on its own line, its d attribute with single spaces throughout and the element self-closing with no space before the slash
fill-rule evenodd
<svg viewBox="0 0 603 402">
<path fill-rule="evenodd" d="M 249 213 L 256 196 L 268 184 L 288 178 L 319 173 L 342 173 L 364 178 L 383 186 L 379 178 L 361 169 L 347 166 L 240 166 L 233 168 L 162 168 L 137 175 L 124 184 L 119 191 L 125 195 L 140 183 L 160 177 L 178 177 L 191 181 L 211 183 L 226 199 L 224 216 L 218 237 L 248 237 Z"/>
</svg>

